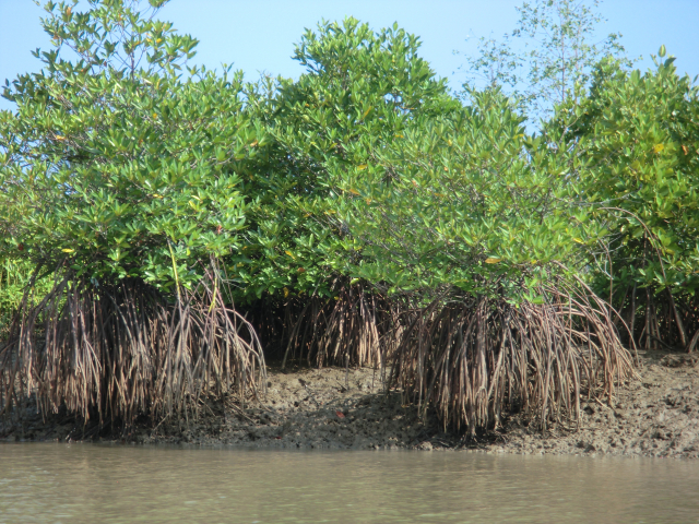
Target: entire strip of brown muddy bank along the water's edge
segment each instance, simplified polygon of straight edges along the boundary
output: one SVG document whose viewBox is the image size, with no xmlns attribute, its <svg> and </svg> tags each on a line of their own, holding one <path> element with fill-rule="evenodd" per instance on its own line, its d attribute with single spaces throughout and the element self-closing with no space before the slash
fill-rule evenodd
<svg viewBox="0 0 699 524">
<path fill-rule="evenodd" d="M 387 394 L 378 371 L 271 368 L 261 402 L 210 398 L 198 419 L 115 434 L 60 415 L 43 420 L 27 405 L 14 421 L 0 420 L 0 440 L 699 457 L 699 357 L 649 352 L 640 358 L 638 379 L 617 391 L 612 406 L 583 402 L 579 430 L 554 428 L 545 436 L 513 416 L 500 431 L 465 441 L 443 432 L 435 417 L 420 419 L 399 392 Z"/>
</svg>

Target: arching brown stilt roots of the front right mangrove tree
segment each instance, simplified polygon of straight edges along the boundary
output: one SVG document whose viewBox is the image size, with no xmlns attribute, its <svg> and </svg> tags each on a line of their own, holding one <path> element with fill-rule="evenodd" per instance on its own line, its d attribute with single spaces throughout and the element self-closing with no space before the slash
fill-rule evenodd
<svg viewBox="0 0 699 524">
<path fill-rule="evenodd" d="M 497 427 L 503 410 L 535 426 L 578 420 L 580 398 L 611 400 L 632 373 L 611 311 L 589 290 L 546 287 L 545 303 L 442 296 L 413 314 L 391 383 L 445 427 Z"/>
</svg>

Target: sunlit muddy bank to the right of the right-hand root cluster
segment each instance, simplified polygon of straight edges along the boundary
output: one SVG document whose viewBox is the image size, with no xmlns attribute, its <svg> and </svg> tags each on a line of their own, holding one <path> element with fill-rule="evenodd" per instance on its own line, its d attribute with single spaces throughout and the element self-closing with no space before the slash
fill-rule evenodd
<svg viewBox="0 0 699 524">
<path fill-rule="evenodd" d="M 612 406 L 583 403 L 578 431 L 531 433 L 510 419 L 490 452 L 699 457 L 699 355 L 648 352 Z"/>
</svg>

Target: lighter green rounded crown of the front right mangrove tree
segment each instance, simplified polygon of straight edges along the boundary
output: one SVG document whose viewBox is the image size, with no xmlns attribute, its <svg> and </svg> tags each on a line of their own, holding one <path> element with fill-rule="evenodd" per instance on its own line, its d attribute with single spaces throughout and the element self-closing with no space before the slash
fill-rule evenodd
<svg viewBox="0 0 699 524">
<path fill-rule="evenodd" d="M 416 119 L 400 141 L 374 148 L 366 169 L 334 171 L 348 195 L 341 214 L 364 242 L 355 276 L 517 302 L 534 300 L 531 290 L 561 263 L 581 260 L 573 239 L 590 226 L 560 200 L 572 159 L 528 138 L 497 91 L 474 102 Z"/>
</svg>

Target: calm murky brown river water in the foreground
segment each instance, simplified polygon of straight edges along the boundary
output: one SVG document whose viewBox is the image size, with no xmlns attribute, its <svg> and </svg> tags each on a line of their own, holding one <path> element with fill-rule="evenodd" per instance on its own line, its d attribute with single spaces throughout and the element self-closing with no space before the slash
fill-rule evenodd
<svg viewBox="0 0 699 524">
<path fill-rule="evenodd" d="M 0 444 L 0 523 L 699 523 L 699 462 Z"/>
</svg>

